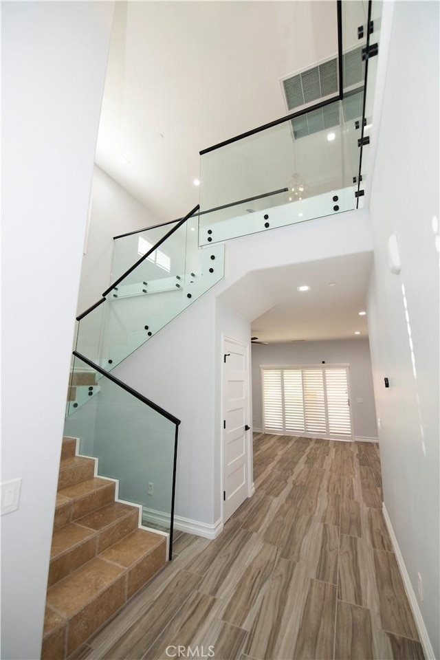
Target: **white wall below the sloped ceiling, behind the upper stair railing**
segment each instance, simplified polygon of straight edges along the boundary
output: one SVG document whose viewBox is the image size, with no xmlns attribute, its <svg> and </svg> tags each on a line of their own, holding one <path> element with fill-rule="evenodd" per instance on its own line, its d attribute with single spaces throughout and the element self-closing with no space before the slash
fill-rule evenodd
<svg viewBox="0 0 440 660">
<path fill-rule="evenodd" d="M 159 221 L 100 167 L 94 166 L 85 254 L 81 269 L 78 314 L 94 305 L 111 284 L 113 236 Z M 122 239 L 123 240 L 123 239 Z M 133 263 L 138 258 L 133 254 Z"/>
</svg>

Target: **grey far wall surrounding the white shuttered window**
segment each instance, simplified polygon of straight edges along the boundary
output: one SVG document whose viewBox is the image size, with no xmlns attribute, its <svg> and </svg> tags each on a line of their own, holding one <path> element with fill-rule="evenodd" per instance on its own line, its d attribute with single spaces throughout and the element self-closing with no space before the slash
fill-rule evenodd
<svg viewBox="0 0 440 660">
<path fill-rule="evenodd" d="M 377 439 L 376 412 L 367 339 L 252 346 L 252 401 L 254 426 L 262 428 L 261 365 L 349 364 L 350 405 L 355 439 Z M 358 403 L 356 399 L 363 399 Z"/>
</svg>

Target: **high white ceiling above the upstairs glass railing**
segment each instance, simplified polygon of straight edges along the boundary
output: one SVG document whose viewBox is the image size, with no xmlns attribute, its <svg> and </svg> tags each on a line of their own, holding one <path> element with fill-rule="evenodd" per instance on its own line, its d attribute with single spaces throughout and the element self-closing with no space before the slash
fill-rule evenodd
<svg viewBox="0 0 440 660">
<path fill-rule="evenodd" d="M 281 79 L 336 52 L 336 1 L 117 2 L 96 162 L 181 217 L 199 151 L 285 115 Z"/>
</svg>

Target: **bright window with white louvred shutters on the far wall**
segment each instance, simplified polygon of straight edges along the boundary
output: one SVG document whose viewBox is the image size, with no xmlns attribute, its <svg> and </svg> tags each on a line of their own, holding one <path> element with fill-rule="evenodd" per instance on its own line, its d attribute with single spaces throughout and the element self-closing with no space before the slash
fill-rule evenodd
<svg viewBox="0 0 440 660">
<path fill-rule="evenodd" d="M 347 366 L 263 368 L 267 432 L 351 438 Z"/>
</svg>

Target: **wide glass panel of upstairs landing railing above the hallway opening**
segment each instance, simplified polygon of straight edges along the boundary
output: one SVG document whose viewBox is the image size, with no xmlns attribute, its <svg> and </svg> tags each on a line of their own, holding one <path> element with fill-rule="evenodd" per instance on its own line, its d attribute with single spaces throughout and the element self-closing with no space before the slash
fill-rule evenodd
<svg viewBox="0 0 440 660">
<path fill-rule="evenodd" d="M 200 244 L 355 208 L 360 107 L 332 102 L 203 153 Z"/>
</svg>

